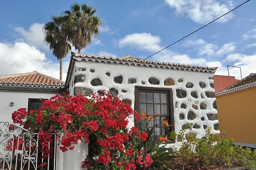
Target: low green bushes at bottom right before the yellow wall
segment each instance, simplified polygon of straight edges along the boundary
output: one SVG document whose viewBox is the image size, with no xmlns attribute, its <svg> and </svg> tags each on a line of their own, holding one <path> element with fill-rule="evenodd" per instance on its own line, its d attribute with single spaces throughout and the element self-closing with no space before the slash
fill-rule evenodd
<svg viewBox="0 0 256 170">
<path fill-rule="evenodd" d="M 180 130 L 177 135 L 181 142 L 180 149 L 175 153 L 177 158 L 169 162 L 169 168 L 175 170 L 210 170 L 226 167 L 256 167 L 256 151 L 250 148 L 233 145 L 233 139 L 224 139 L 224 135 L 211 134 L 211 127 L 205 130 L 205 136 L 196 139 L 192 132 L 192 123 L 187 124 L 190 132 Z"/>
</svg>

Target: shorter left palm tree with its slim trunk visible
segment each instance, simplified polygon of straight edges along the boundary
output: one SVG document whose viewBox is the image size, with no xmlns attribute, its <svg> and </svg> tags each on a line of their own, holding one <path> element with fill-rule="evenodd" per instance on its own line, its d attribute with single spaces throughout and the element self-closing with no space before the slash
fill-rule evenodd
<svg viewBox="0 0 256 170">
<path fill-rule="evenodd" d="M 52 54 L 60 60 L 60 80 L 62 80 L 62 59 L 71 50 L 68 43 L 68 29 L 66 26 L 67 16 L 52 17 L 51 22 L 44 25 L 44 40 L 49 44 Z"/>
</svg>

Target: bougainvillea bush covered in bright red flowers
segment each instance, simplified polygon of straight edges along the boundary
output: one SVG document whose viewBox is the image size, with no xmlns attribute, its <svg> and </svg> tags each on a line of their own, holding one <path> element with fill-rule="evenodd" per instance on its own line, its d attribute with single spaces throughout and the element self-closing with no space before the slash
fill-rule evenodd
<svg viewBox="0 0 256 170">
<path fill-rule="evenodd" d="M 137 121 L 142 119 L 118 97 L 102 91 L 90 99 L 81 95 L 56 95 L 44 100 L 38 111 L 28 113 L 26 108 L 20 108 L 12 114 L 12 119 L 14 123 L 39 133 L 44 159 L 51 156 L 49 142 L 53 140 L 52 133 L 57 133 L 63 152 L 73 150 L 79 141 L 89 143 L 89 155 L 83 161 L 83 167 L 89 170 L 156 168 L 152 156 L 156 157 L 157 149 L 154 153 L 148 152 L 148 133 L 136 127 L 128 130 L 129 116 L 134 116 Z M 154 144 L 159 147 L 156 142 Z M 39 167 L 44 165 L 45 162 Z"/>
</svg>

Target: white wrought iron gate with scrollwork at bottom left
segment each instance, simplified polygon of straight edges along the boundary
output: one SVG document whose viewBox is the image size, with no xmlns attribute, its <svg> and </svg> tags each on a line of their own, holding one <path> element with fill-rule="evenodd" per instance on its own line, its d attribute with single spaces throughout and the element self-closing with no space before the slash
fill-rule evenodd
<svg viewBox="0 0 256 170">
<path fill-rule="evenodd" d="M 56 139 L 56 134 L 53 136 Z M 37 166 L 45 161 L 47 170 L 55 170 L 56 140 L 49 143 L 54 153 L 47 160 L 41 158 L 38 142 L 38 133 L 9 122 L 0 122 L 0 170 L 37 170 Z"/>
</svg>

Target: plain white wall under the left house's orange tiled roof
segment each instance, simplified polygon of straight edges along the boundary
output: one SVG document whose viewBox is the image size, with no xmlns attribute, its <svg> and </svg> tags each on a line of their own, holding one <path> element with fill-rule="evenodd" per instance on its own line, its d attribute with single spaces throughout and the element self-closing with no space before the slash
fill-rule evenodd
<svg viewBox="0 0 256 170">
<path fill-rule="evenodd" d="M 12 122 L 12 113 L 19 108 L 28 108 L 29 98 L 49 99 L 57 93 L 0 91 L 0 122 Z M 14 102 L 14 106 L 10 106 Z"/>
</svg>

